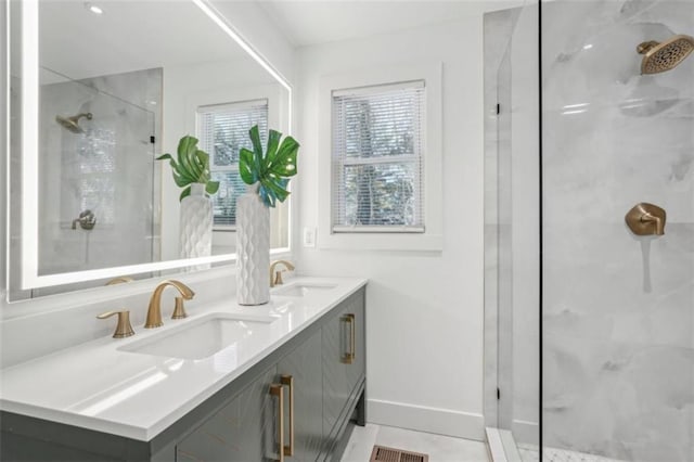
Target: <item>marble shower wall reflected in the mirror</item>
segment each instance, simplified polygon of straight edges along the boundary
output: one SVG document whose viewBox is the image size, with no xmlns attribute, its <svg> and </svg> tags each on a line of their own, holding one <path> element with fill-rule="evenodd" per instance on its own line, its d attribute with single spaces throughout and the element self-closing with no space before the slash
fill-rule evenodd
<svg viewBox="0 0 694 462">
<path fill-rule="evenodd" d="M 162 69 L 42 85 L 40 98 L 39 272 L 158 260 Z M 80 113 L 93 115 L 82 133 L 55 121 Z M 73 230 L 85 209 L 97 226 Z"/>
</svg>

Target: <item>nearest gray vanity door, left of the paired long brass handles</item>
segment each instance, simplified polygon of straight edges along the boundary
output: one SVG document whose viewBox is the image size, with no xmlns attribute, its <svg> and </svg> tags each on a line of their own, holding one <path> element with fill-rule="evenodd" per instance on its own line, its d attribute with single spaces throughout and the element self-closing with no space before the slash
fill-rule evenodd
<svg viewBox="0 0 694 462">
<path fill-rule="evenodd" d="M 277 381 L 271 368 L 228 405 L 176 445 L 177 462 L 248 462 L 278 460 Z"/>
</svg>

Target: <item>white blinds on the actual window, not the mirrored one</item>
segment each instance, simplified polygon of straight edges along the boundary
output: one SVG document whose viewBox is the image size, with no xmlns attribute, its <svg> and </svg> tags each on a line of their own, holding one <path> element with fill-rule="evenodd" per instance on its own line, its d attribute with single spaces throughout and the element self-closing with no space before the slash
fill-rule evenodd
<svg viewBox="0 0 694 462">
<path fill-rule="evenodd" d="M 333 232 L 424 232 L 423 80 L 332 92 Z"/>
</svg>

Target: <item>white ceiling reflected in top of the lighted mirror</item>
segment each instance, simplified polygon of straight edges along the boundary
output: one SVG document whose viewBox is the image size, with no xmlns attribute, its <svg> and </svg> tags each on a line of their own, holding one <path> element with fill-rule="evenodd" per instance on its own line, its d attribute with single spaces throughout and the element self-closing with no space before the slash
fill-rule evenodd
<svg viewBox="0 0 694 462">
<path fill-rule="evenodd" d="M 103 14 L 85 3 L 40 2 L 42 66 L 79 79 L 246 56 L 192 2 L 92 0 Z"/>
</svg>

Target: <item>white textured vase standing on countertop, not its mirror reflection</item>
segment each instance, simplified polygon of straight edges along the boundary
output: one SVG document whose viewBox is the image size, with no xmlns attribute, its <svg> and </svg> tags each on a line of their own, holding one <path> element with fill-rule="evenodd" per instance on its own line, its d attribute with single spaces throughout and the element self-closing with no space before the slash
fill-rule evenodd
<svg viewBox="0 0 694 462">
<path fill-rule="evenodd" d="M 260 200 L 257 184 L 236 200 L 236 301 L 270 301 L 270 208 Z"/>
</svg>

